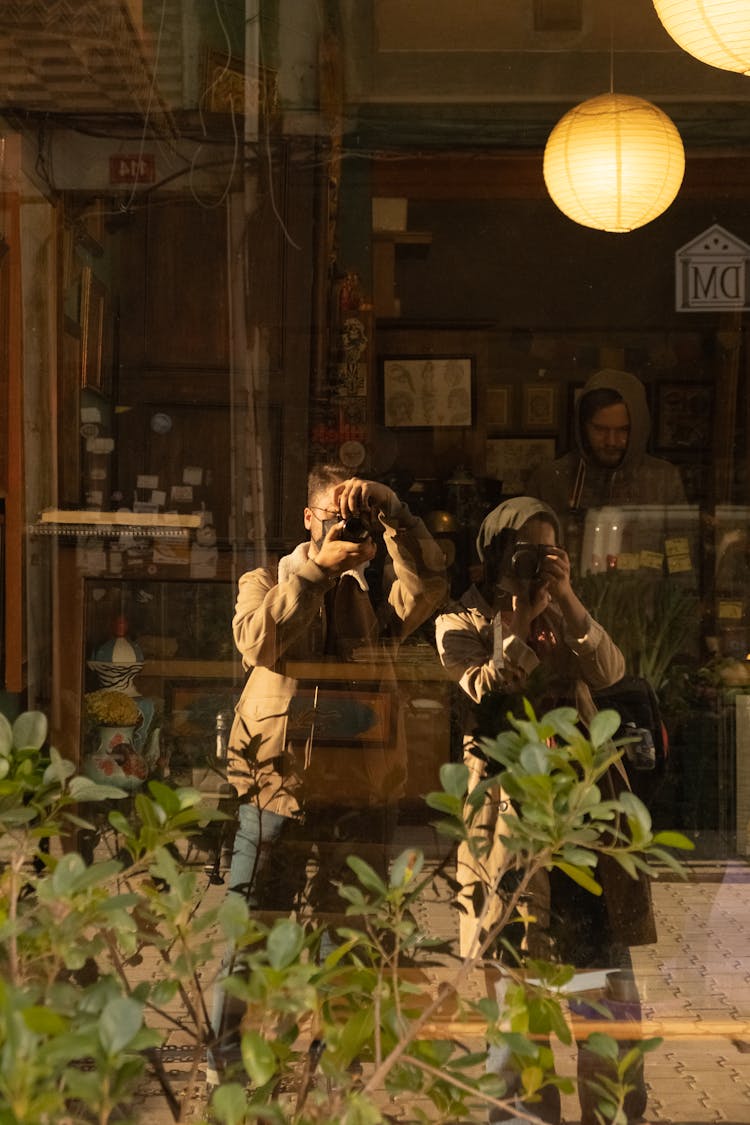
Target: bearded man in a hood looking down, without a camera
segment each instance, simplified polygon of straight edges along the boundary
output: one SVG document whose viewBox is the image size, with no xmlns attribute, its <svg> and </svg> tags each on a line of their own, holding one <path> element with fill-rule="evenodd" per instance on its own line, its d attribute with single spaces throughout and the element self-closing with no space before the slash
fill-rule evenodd
<svg viewBox="0 0 750 1125">
<path fill-rule="evenodd" d="M 575 449 L 531 476 L 527 490 L 561 515 L 606 505 L 687 504 L 678 469 L 645 447 L 651 415 L 629 371 L 597 371 L 576 403 Z"/>
</svg>

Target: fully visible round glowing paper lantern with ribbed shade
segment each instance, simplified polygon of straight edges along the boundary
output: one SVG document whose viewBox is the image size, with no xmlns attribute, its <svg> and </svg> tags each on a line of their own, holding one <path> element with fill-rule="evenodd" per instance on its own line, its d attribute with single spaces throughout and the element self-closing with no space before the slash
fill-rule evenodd
<svg viewBox="0 0 750 1125">
<path fill-rule="evenodd" d="M 569 110 L 544 148 L 544 182 L 560 210 L 597 231 L 634 231 L 665 212 L 683 182 L 685 150 L 657 106 L 603 93 Z"/>
</svg>

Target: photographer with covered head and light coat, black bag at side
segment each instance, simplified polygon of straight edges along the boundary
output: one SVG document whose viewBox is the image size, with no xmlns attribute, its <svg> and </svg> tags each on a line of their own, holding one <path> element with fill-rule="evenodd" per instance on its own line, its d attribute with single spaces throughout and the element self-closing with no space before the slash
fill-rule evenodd
<svg viewBox="0 0 750 1125">
<path fill-rule="evenodd" d="M 524 698 L 537 714 L 553 706 L 575 706 L 586 723 L 596 712 L 591 691 L 608 687 L 623 675 L 623 656 L 573 592 L 570 560 L 558 541 L 558 519 L 546 504 L 531 496 L 500 504 L 486 516 L 477 537 L 482 580 L 436 620 L 441 660 L 466 698 L 464 762 L 471 789 L 486 770 L 478 739 L 496 737 L 507 726 L 508 712 L 524 718 Z M 629 788 L 622 763 L 615 763 L 602 786 L 605 799 Z M 459 846 L 464 955 L 477 936 L 481 888 L 491 885 L 504 865 L 503 818 L 512 809 L 505 794 L 499 788 L 490 790 L 472 826 L 473 831 L 487 834 L 488 855 L 478 865 L 466 845 Z M 531 893 L 534 921 L 524 946 L 531 956 L 552 956 L 579 969 L 627 970 L 627 947 L 656 940 L 648 884 L 623 875 L 616 864 L 599 864 L 597 879 L 604 890 L 599 899 L 559 871 L 542 876 Z M 496 918 L 497 912 L 486 916 L 486 925 Z M 495 1061 L 512 1094 L 517 1076 L 506 1073 L 504 1058 Z M 579 1052 L 580 1078 L 595 1076 L 597 1065 L 590 1053 Z M 586 1082 L 579 1086 L 579 1097 L 582 1125 L 595 1125 L 596 1098 Z M 627 1119 L 636 1120 L 644 1107 L 641 1073 L 625 1099 Z M 540 1104 L 525 1108 L 553 1125 L 560 1120 L 560 1099 L 553 1087 L 542 1091 Z"/>
</svg>

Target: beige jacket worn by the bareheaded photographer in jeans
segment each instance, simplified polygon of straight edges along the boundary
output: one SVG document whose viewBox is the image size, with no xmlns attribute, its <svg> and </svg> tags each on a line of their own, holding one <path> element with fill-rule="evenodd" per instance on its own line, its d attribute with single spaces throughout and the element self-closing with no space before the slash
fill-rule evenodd
<svg viewBox="0 0 750 1125">
<path fill-rule="evenodd" d="M 277 572 L 240 578 L 233 632 L 250 676 L 229 737 L 229 780 L 282 816 L 309 801 L 362 806 L 403 793 L 394 657 L 444 601 L 445 565 L 405 504 L 379 519 L 392 569 L 382 604 L 373 606 L 362 574 L 326 576 L 307 543 Z M 253 736 L 262 744 L 249 762 L 243 747 Z"/>
</svg>

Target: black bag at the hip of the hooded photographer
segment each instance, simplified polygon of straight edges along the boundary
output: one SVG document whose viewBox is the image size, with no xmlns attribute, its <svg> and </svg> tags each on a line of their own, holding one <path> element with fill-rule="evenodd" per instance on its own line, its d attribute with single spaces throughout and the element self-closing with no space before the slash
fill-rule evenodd
<svg viewBox="0 0 750 1125">
<path fill-rule="evenodd" d="M 621 726 L 615 739 L 632 738 L 625 747 L 625 762 L 632 770 L 663 767 L 667 760 L 667 731 L 661 719 L 659 700 L 648 680 L 623 676 L 611 687 L 591 692 L 598 711 L 616 711 Z"/>
</svg>

